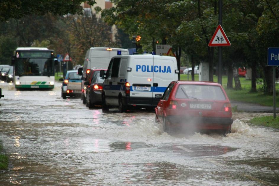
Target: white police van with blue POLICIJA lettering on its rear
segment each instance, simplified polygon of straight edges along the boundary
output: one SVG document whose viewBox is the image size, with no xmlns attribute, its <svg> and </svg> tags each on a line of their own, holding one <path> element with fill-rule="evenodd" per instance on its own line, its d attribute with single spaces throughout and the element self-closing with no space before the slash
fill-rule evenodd
<svg viewBox="0 0 279 186">
<path fill-rule="evenodd" d="M 171 81 L 178 80 L 175 57 L 151 54 L 121 55 L 111 59 L 104 77 L 103 111 L 118 107 L 119 112 L 133 108 L 155 108 Z"/>
</svg>

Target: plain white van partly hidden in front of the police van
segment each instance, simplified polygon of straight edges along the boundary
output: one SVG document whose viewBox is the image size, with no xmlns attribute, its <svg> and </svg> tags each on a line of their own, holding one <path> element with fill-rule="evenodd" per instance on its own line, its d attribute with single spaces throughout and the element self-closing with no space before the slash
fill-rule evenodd
<svg viewBox="0 0 279 186">
<path fill-rule="evenodd" d="M 83 72 L 79 70 L 79 74 L 82 77 L 86 78 L 90 69 L 107 69 L 109 65 L 109 61 L 113 56 L 116 55 L 128 55 L 128 49 L 121 49 L 121 48 L 108 48 L 108 47 L 91 47 L 87 50 L 86 56 L 83 63 Z M 83 100 L 84 95 L 84 80 L 81 84 L 81 99 Z"/>
</svg>

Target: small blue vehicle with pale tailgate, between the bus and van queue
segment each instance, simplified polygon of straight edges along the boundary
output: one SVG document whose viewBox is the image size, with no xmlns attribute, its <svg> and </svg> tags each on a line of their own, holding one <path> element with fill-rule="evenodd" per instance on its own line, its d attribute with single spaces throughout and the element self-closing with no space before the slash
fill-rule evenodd
<svg viewBox="0 0 279 186">
<path fill-rule="evenodd" d="M 63 81 L 61 86 L 61 97 L 78 97 L 81 89 L 81 76 L 78 75 L 78 70 L 68 70 L 65 78 L 60 78 Z"/>
</svg>

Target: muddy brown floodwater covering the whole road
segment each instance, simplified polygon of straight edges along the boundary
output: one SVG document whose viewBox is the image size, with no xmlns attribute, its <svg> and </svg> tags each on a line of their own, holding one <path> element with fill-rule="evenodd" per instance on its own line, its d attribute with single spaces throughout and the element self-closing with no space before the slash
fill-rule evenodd
<svg viewBox="0 0 279 186">
<path fill-rule="evenodd" d="M 227 136 L 170 136 L 154 113 L 102 113 L 55 86 L 0 83 L 0 185 L 279 185 L 279 131 L 249 124 L 259 113 L 233 114 Z"/>
</svg>

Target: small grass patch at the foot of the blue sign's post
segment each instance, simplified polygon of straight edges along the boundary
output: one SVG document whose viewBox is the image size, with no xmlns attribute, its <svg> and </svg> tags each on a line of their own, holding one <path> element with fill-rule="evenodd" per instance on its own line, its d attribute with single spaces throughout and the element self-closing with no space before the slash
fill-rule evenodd
<svg viewBox="0 0 279 186">
<path fill-rule="evenodd" d="M 256 117 L 250 120 L 250 122 L 254 125 L 260 125 L 260 126 L 266 126 L 266 127 L 272 127 L 275 129 L 279 129 L 279 117 L 276 117 L 275 119 L 273 116 L 262 116 L 262 117 Z"/>
</svg>

